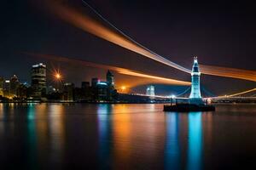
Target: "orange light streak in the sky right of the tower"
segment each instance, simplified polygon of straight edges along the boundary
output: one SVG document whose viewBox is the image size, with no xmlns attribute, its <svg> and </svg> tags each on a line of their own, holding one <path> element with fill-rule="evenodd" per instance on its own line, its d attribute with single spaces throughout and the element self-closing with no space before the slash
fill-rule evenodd
<svg viewBox="0 0 256 170">
<path fill-rule="evenodd" d="M 201 73 L 218 77 L 231 77 L 256 82 L 256 71 L 220 67 L 213 65 L 200 65 Z"/>
</svg>

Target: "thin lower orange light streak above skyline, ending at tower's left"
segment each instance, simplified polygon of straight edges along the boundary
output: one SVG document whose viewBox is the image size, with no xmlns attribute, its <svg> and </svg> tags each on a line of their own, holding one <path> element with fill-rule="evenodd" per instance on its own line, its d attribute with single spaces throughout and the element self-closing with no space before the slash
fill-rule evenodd
<svg viewBox="0 0 256 170">
<path fill-rule="evenodd" d="M 111 71 L 117 71 L 119 74 L 123 74 L 123 75 L 128 75 L 128 76 L 133 76 L 133 77 L 149 78 L 151 80 L 154 80 L 154 82 L 173 84 L 173 85 L 182 85 L 182 86 L 189 86 L 191 84 L 190 82 L 180 81 L 180 80 L 176 80 L 176 79 L 172 79 L 172 78 L 156 77 L 156 76 L 153 76 L 153 75 L 144 74 L 144 73 L 139 72 L 139 71 L 132 71 L 132 70 L 128 70 L 128 69 L 125 69 L 125 68 L 115 67 L 115 66 L 112 66 L 112 65 L 96 64 L 96 63 L 84 61 L 82 59 L 70 59 L 70 58 L 67 58 L 67 57 L 47 55 L 47 54 L 32 54 L 32 53 L 24 53 L 24 54 L 27 54 L 27 55 L 33 56 L 33 57 L 38 57 L 38 58 L 52 59 L 52 60 L 60 61 L 60 62 L 74 63 L 74 64 L 80 64 L 80 65 L 85 65 L 85 66 L 89 66 L 89 67 L 95 67 L 95 68 L 101 68 L 101 69 L 106 69 L 106 70 L 111 70 Z"/>
</svg>

